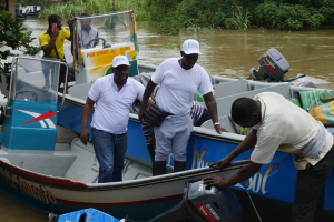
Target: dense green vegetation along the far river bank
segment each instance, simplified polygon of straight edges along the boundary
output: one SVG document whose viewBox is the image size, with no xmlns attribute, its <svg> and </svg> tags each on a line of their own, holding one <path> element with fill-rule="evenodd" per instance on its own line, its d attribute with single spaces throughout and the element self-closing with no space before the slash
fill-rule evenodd
<svg viewBox="0 0 334 222">
<path fill-rule="evenodd" d="M 297 30 L 334 24 L 334 0 L 66 0 L 45 9 L 40 19 L 125 9 L 132 9 L 137 20 L 159 21 L 164 34 L 177 34 L 183 28 Z"/>
</svg>

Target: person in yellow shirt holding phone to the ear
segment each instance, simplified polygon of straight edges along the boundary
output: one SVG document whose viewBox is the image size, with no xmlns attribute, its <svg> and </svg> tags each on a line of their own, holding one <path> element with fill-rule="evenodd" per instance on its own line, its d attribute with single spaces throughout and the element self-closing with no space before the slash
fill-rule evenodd
<svg viewBox="0 0 334 222">
<path fill-rule="evenodd" d="M 45 52 L 42 59 L 65 60 L 63 41 L 65 39 L 69 41 L 73 40 L 73 19 L 67 20 L 67 23 L 70 28 L 70 33 L 65 28 L 62 28 L 61 18 L 58 14 L 51 14 L 48 21 L 49 28 L 39 36 L 40 47 Z M 57 23 L 57 26 L 53 29 L 52 23 Z M 60 68 L 59 85 L 61 84 L 65 78 L 65 73 L 61 73 L 61 70 L 66 69 Z M 45 62 L 42 63 L 42 71 L 46 78 L 46 84 L 43 87 L 43 90 L 48 90 L 50 88 L 50 72 L 53 71 L 53 67 Z"/>
</svg>

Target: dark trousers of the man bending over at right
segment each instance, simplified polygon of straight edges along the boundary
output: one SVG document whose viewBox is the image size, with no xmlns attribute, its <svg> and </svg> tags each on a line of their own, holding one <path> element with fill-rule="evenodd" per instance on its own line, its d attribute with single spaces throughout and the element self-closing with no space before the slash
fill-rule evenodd
<svg viewBox="0 0 334 222">
<path fill-rule="evenodd" d="M 334 145 L 315 165 L 299 170 L 295 186 L 293 222 L 322 222 L 325 201 L 325 182 L 334 165 Z"/>
</svg>

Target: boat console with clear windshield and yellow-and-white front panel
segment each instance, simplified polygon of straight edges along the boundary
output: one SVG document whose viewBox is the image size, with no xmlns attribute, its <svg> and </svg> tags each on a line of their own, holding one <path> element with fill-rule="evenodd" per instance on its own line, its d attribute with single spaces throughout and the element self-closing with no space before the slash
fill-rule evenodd
<svg viewBox="0 0 334 222">
<path fill-rule="evenodd" d="M 82 14 L 75 18 L 73 62 L 76 83 L 91 83 L 112 73 L 116 56 L 126 56 L 130 75 L 138 74 L 136 54 L 139 51 L 132 11 L 108 14 Z"/>
</svg>

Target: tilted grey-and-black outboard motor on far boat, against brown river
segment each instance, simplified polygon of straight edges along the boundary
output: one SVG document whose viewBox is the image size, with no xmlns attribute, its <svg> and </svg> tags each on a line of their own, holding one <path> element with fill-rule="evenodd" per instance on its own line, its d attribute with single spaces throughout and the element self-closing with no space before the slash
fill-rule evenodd
<svg viewBox="0 0 334 222">
<path fill-rule="evenodd" d="M 254 80 L 267 82 L 282 82 L 288 72 L 289 64 L 275 48 L 269 49 L 258 59 L 258 71 L 253 67 L 249 72 Z"/>
</svg>

